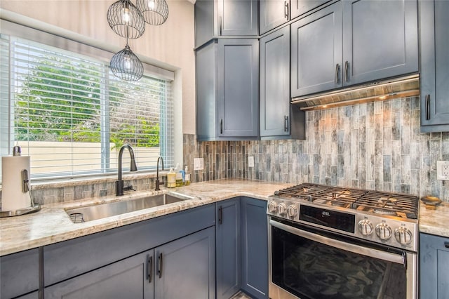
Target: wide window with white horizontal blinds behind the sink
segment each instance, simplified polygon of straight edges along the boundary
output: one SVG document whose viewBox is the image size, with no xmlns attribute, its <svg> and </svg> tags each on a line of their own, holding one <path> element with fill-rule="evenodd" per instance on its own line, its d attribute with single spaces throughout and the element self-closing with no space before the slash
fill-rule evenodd
<svg viewBox="0 0 449 299">
<path fill-rule="evenodd" d="M 173 163 L 170 81 L 122 81 L 107 62 L 6 34 L 0 59 L 1 153 L 20 145 L 32 178 L 116 171 L 125 143 L 139 170 Z"/>
</svg>

